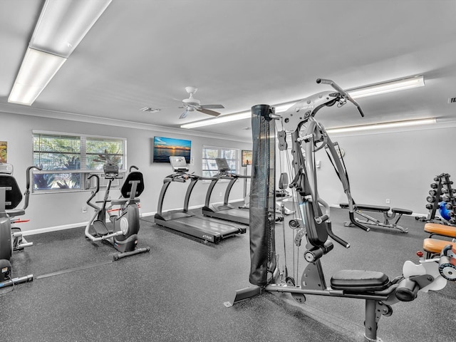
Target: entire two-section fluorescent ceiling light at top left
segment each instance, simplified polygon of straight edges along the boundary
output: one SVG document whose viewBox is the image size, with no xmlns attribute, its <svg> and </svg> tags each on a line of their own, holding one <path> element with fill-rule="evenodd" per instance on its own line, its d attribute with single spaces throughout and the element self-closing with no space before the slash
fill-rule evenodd
<svg viewBox="0 0 456 342">
<path fill-rule="evenodd" d="M 31 105 L 112 0 L 46 0 L 8 102 Z"/>
</svg>

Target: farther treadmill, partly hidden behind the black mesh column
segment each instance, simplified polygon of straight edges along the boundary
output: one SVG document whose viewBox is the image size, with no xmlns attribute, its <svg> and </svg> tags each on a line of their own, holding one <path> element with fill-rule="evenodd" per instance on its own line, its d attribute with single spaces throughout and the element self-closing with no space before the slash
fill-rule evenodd
<svg viewBox="0 0 456 342">
<path fill-rule="evenodd" d="M 228 162 L 225 158 L 216 158 L 215 162 L 217 163 L 219 173 L 212 178 L 211 184 L 207 189 L 206 200 L 204 202 L 204 207 L 202 208 L 202 213 L 206 217 L 214 217 L 217 219 L 224 219 L 248 225 L 250 218 L 248 205 L 244 207 L 234 207 L 232 204 L 228 203 L 228 199 L 229 192 L 231 192 L 234 183 L 239 178 L 250 178 L 250 176 L 231 173 L 231 169 L 229 168 Z M 212 190 L 214 190 L 214 187 L 219 180 L 229 180 L 227 190 L 225 190 L 223 204 L 211 204 L 210 200 Z"/>
</svg>

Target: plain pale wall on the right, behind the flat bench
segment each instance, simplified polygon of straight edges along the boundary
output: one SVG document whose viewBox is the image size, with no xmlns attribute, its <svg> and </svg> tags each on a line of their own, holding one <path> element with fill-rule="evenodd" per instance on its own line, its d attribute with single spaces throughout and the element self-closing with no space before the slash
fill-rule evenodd
<svg viewBox="0 0 456 342">
<path fill-rule="evenodd" d="M 406 132 L 331 135 L 345 150 L 355 202 L 411 209 L 426 215 L 426 197 L 435 175 L 456 181 L 455 123 L 440 123 Z M 325 152 L 318 152 L 318 189 L 330 204 L 347 202 Z M 385 199 L 390 199 L 390 204 Z"/>
</svg>

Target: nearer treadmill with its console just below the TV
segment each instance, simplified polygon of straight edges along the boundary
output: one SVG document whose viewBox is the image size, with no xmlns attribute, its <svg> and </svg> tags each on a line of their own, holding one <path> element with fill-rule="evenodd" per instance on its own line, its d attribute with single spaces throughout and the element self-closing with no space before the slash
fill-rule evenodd
<svg viewBox="0 0 456 342">
<path fill-rule="evenodd" d="M 190 195 L 198 180 L 212 180 L 208 177 L 200 177 L 190 175 L 185 157 L 170 157 L 172 170 L 174 173 L 165 177 L 163 180 L 162 190 L 158 199 L 157 214 L 155 214 L 155 223 L 166 228 L 177 230 L 185 234 L 192 235 L 203 239 L 204 242 L 219 243 L 222 239 L 232 237 L 235 234 L 244 234 L 247 229 L 240 224 L 229 224 L 218 219 L 207 219 L 206 217 L 198 217 L 188 211 Z M 165 194 L 172 182 L 187 182 L 190 180 L 190 185 L 185 193 L 183 209 L 162 211 L 163 200 Z"/>
</svg>

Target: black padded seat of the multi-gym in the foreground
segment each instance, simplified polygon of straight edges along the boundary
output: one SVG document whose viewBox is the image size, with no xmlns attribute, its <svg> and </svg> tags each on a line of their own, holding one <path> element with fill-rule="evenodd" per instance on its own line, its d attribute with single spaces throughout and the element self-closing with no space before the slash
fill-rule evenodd
<svg viewBox="0 0 456 342">
<path fill-rule="evenodd" d="M 343 269 L 331 278 L 331 288 L 351 293 L 382 291 L 390 285 L 390 279 L 382 272 Z"/>
</svg>

